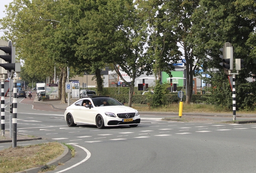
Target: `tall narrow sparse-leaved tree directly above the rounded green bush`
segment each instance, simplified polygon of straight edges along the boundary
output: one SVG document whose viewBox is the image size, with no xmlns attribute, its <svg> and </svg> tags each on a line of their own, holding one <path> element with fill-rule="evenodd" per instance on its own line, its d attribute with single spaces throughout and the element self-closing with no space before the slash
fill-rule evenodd
<svg viewBox="0 0 256 173">
<path fill-rule="evenodd" d="M 161 80 L 161 71 L 171 75 L 172 64 L 180 58 L 181 52 L 175 40 L 175 35 L 169 27 L 169 14 L 165 8 L 166 0 L 136 0 L 139 14 L 144 20 L 147 30 L 146 55 L 153 61 L 155 78 Z M 161 81 L 160 81 L 161 82 Z"/>
</svg>

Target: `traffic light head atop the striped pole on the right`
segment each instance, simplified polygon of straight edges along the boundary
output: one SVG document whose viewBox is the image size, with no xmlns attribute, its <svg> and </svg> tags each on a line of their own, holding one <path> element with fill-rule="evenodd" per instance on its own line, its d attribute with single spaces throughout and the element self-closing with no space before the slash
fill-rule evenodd
<svg viewBox="0 0 256 173">
<path fill-rule="evenodd" d="M 220 65 L 223 67 L 225 74 L 229 75 L 229 70 L 233 70 L 233 47 L 229 42 L 225 42 L 223 48 L 220 48 L 223 55 L 219 56 L 222 59 Z"/>
</svg>

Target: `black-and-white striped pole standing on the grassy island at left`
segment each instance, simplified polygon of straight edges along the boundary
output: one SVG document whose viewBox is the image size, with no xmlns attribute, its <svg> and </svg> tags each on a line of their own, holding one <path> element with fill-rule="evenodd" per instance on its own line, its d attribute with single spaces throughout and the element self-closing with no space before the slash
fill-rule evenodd
<svg viewBox="0 0 256 173">
<path fill-rule="evenodd" d="M 12 101 L 12 148 L 17 147 L 17 79 L 19 72 L 16 72 L 16 77 L 13 78 L 13 101 Z"/>
</svg>

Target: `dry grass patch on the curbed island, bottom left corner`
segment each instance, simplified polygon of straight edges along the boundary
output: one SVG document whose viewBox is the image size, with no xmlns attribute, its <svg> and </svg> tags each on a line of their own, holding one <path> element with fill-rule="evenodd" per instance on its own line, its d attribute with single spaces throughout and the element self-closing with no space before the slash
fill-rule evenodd
<svg viewBox="0 0 256 173">
<path fill-rule="evenodd" d="M 63 152 L 62 145 L 56 142 L 4 149 L 0 151 L 0 172 L 13 173 L 45 165 Z"/>
</svg>

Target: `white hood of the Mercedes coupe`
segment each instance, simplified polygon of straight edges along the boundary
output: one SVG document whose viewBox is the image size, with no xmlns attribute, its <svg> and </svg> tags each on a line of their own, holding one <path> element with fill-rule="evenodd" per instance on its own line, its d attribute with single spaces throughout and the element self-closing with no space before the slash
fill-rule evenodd
<svg viewBox="0 0 256 173">
<path fill-rule="evenodd" d="M 100 111 L 105 111 L 109 113 L 135 113 L 135 109 L 126 106 L 103 106 L 97 107 Z"/>
</svg>

